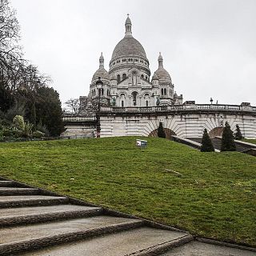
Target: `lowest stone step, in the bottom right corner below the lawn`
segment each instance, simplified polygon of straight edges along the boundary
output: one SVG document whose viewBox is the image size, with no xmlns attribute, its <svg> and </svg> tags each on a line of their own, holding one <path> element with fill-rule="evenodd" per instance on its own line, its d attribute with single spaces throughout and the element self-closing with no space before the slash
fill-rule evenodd
<svg viewBox="0 0 256 256">
<path fill-rule="evenodd" d="M 170 250 L 162 256 L 255 256 L 255 251 L 241 250 L 237 248 L 218 246 L 206 242 L 190 242 L 186 245 Z"/>
</svg>

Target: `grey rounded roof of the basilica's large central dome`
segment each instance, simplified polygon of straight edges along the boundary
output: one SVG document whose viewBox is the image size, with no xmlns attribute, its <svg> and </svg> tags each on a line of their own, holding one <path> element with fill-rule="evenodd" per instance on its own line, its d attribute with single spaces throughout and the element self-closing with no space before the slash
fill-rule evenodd
<svg viewBox="0 0 256 256">
<path fill-rule="evenodd" d="M 112 59 L 130 55 L 146 58 L 146 52 L 143 46 L 132 36 L 122 38 L 122 40 L 118 42 L 117 46 L 114 47 Z"/>
</svg>

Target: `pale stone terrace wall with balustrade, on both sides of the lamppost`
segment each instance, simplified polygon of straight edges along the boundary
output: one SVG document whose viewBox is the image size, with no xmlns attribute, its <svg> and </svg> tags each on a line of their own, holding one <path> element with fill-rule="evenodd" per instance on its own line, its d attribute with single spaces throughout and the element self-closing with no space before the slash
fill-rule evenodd
<svg viewBox="0 0 256 256">
<path fill-rule="evenodd" d="M 79 121 L 80 119 L 82 121 Z M 87 118 L 89 121 L 86 121 L 87 119 L 81 117 L 80 119 L 69 119 L 64 135 L 92 136 L 95 120 Z M 149 136 L 158 129 L 159 122 L 162 122 L 170 133 L 173 132 L 183 138 L 202 137 L 205 128 L 210 132 L 214 128 L 225 126 L 225 122 L 229 122 L 233 131 L 238 124 L 245 138 L 256 138 L 256 107 L 207 104 L 102 108 L 101 137 Z"/>
</svg>

